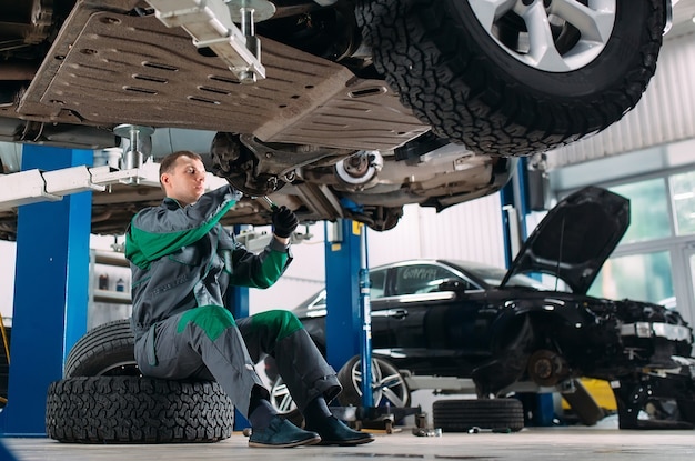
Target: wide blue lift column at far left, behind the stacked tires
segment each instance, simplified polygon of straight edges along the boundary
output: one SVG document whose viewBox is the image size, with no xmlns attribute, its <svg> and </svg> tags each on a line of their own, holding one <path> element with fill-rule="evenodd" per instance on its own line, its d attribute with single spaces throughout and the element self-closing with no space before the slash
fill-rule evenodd
<svg viewBox="0 0 695 461">
<path fill-rule="evenodd" d="M 24 146 L 22 170 L 92 164 L 91 150 Z M 92 193 L 19 207 L 4 435 L 46 437 L 46 392 L 87 331 Z"/>
</svg>

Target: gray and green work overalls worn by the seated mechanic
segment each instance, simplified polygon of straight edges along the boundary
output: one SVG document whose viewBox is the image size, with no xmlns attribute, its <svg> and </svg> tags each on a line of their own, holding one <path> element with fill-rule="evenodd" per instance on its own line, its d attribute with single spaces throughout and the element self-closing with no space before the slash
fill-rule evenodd
<svg viewBox="0 0 695 461">
<path fill-rule="evenodd" d="M 162 379 L 214 379 L 248 417 L 252 395 L 268 398 L 255 372 L 272 355 L 300 410 L 341 390 L 298 318 L 289 311 L 232 317 L 230 285 L 269 288 L 291 262 L 274 238 L 259 254 L 236 242 L 220 218 L 239 199 L 229 186 L 181 207 L 167 198 L 130 224 L 125 257 L 132 270 L 132 329 L 143 374 Z"/>
</svg>

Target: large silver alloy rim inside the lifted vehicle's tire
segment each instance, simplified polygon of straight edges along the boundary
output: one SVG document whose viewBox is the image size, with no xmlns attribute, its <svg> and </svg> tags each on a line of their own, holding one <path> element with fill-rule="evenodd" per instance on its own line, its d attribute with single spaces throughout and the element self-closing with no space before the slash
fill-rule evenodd
<svg viewBox="0 0 695 461">
<path fill-rule="evenodd" d="M 487 33 L 514 59 L 547 72 L 591 63 L 613 33 L 616 0 L 469 0 Z"/>
</svg>

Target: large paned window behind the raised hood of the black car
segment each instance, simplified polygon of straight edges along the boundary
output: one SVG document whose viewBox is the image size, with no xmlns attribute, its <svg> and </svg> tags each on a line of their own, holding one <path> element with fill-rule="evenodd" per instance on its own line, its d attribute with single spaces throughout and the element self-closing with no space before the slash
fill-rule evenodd
<svg viewBox="0 0 695 461">
<path fill-rule="evenodd" d="M 644 163 L 656 153 L 671 171 L 638 167 L 642 176 L 632 182 L 593 182 L 629 199 L 631 224 L 588 293 L 677 305 L 691 321 L 695 319 L 695 158 L 689 147 L 682 158 L 671 157 L 673 152 L 666 147 L 661 153 L 632 157 L 642 159 L 635 163 Z M 624 157 L 625 171 L 632 171 L 632 158 Z M 596 162 L 582 171 L 592 172 L 587 178 L 601 178 L 602 164 L 606 163 Z"/>
</svg>

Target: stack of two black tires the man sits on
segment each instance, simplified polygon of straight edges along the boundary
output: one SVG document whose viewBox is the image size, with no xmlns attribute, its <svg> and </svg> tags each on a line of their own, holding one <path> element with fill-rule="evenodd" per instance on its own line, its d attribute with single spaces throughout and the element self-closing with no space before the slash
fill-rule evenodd
<svg viewBox="0 0 695 461">
<path fill-rule="evenodd" d="M 72 348 L 66 378 L 50 384 L 46 428 L 72 443 L 216 442 L 234 407 L 216 382 L 140 375 L 129 320 L 90 330 Z"/>
</svg>

